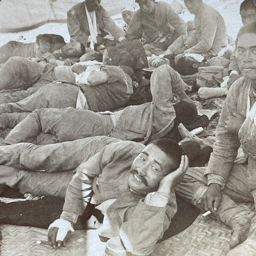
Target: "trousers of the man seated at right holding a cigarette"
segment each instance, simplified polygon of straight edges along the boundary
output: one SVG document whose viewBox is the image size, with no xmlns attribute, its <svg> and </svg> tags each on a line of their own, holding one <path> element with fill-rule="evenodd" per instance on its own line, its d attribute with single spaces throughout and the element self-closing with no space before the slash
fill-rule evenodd
<svg viewBox="0 0 256 256">
<path fill-rule="evenodd" d="M 205 168 L 189 168 L 182 183 L 175 188 L 178 195 L 198 208 L 200 208 L 201 197 L 207 190 L 207 177 L 204 176 Z M 251 210 L 237 205 L 236 202 L 254 202 L 248 187 L 247 164 L 235 164 L 233 166 L 216 214 L 217 219 L 232 228 L 237 224 L 237 221 L 239 223 L 246 221 L 246 217 L 252 213 Z"/>
</svg>

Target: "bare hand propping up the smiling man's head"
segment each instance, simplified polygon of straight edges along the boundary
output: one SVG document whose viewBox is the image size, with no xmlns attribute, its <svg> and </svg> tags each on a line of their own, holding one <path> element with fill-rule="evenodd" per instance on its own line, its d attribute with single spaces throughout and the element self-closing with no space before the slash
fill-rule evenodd
<svg viewBox="0 0 256 256">
<path fill-rule="evenodd" d="M 160 182 L 158 192 L 170 193 L 171 189 L 180 183 L 188 169 L 188 157 L 182 156 L 179 168 L 166 175 Z"/>
</svg>

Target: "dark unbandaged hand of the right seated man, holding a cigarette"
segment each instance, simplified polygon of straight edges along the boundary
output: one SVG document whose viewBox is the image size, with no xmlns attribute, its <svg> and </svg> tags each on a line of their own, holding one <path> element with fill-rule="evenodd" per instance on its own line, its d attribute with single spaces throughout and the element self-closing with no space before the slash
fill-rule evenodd
<svg viewBox="0 0 256 256">
<path fill-rule="evenodd" d="M 201 199 L 201 207 L 205 211 L 211 211 L 214 215 L 219 207 L 219 203 L 222 198 L 222 192 L 220 190 L 220 185 L 217 183 L 211 183 L 207 191 L 204 193 Z"/>
</svg>

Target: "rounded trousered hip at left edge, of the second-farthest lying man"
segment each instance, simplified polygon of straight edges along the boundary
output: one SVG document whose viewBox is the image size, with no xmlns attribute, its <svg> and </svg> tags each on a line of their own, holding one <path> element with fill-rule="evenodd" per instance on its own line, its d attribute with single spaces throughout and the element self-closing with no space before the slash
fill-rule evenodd
<svg viewBox="0 0 256 256">
<path fill-rule="evenodd" d="M 34 85 L 44 72 L 37 62 L 12 57 L 0 68 L 0 91 L 4 89 L 27 89 Z"/>
</svg>

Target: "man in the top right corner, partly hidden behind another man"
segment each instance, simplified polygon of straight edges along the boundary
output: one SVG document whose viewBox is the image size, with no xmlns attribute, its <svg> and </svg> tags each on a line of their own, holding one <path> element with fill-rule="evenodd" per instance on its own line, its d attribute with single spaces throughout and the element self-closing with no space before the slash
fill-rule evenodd
<svg viewBox="0 0 256 256">
<path fill-rule="evenodd" d="M 240 15 L 242 18 L 242 22 L 244 25 L 251 24 L 256 22 L 256 6 L 251 0 L 244 0 L 240 5 Z M 237 61 L 235 58 L 236 50 L 233 51 L 231 55 L 230 64 L 229 64 L 229 72 L 230 79 L 228 81 L 228 86 L 230 87 L 234 81 L 236 81 L 239 77 L 241 77 L 241 71 L 237 65 Z"/>
</svg>

